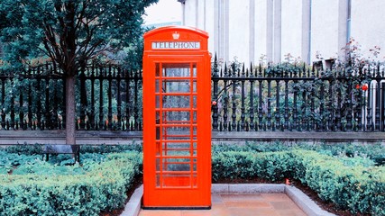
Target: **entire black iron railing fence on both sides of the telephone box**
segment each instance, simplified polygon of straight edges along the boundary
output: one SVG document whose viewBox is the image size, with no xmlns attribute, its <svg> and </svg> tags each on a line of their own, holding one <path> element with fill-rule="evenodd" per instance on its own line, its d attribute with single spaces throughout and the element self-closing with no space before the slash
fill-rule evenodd
<svg viewBox="0 0 385 216">
<path fill-rule="evenodd" d="M 385 72 L 281 64 L 212 70 L 212 124 L 220 131 L 385 131 Z M 0 129 L 62 130 L 65 82 L 46 64 L 0 71 Z M 77 76 L 78 130 L 142 130 L 142 73 L 90 65 Z"/>
</svg>

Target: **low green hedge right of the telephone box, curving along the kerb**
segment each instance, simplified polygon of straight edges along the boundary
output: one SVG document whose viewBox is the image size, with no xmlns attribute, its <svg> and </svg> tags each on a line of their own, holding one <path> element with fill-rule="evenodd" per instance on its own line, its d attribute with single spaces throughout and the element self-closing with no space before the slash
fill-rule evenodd
<svg viewBox="0 0 385 216">
<path fill-rule="evenodd" d="M 365 159 L 309 150 L 216 151 L 212 160 L 214 182 L 228 178 L 296 178 L 341 209 L 385 215 L 385 166 L 367 164 Z"/>
</svg>

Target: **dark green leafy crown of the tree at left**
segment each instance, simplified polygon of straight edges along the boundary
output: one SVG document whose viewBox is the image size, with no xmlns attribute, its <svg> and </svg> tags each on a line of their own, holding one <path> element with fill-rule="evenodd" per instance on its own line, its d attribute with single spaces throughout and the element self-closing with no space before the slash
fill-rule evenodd
<svg viewBox="0 0 385 216">
<path fill-rule="evenodd" d="M 19 65 L 50 58 L 66 70 L 65 65 L 75 68 L 88 59 L 107 57 L 142 35 L 144 8 L 156 2 L 4 0 L 0 36 L 5 58 Z"/>
</svg>

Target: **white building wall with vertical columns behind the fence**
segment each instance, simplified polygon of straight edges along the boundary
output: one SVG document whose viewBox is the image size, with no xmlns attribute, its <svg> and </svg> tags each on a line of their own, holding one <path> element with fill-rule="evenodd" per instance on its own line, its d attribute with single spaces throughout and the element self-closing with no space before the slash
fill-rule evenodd
<svg viewBox="0 0 385 216">
<path fill-rule="evenodd" d="M 309 63 L 338 58 L 347 42 L 349 0 L 186 0 L 184 25 L 209 33 L 209 50 L 225 61 L 258 64 L 285 55 Z M 385 49 L 385 0 L 351 0 L 351 35 L 369 55 Z M 311 8 L 311 11 L 310 11 Z M 277 14 L 280 13 L 280 14 Z M 277 58 L 278 56 L 278 58 Z M 384 60 L 385 54 L 380 54 Z"/>
</svg>

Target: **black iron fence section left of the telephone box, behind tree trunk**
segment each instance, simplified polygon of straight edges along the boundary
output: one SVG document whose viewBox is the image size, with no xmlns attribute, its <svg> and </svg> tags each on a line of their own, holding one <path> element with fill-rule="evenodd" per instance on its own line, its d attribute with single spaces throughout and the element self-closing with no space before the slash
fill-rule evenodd
<svg viewBox="0 0 385 216">
<path fill-rule="evenodd" d="M 0 125 L 5 130 L 62 130 L 65 82 L 47 64 L 0 74 Z M 91 65 L 77 76 L 78 130 L 142 130 L 142 74 Z"/>
</svg>

